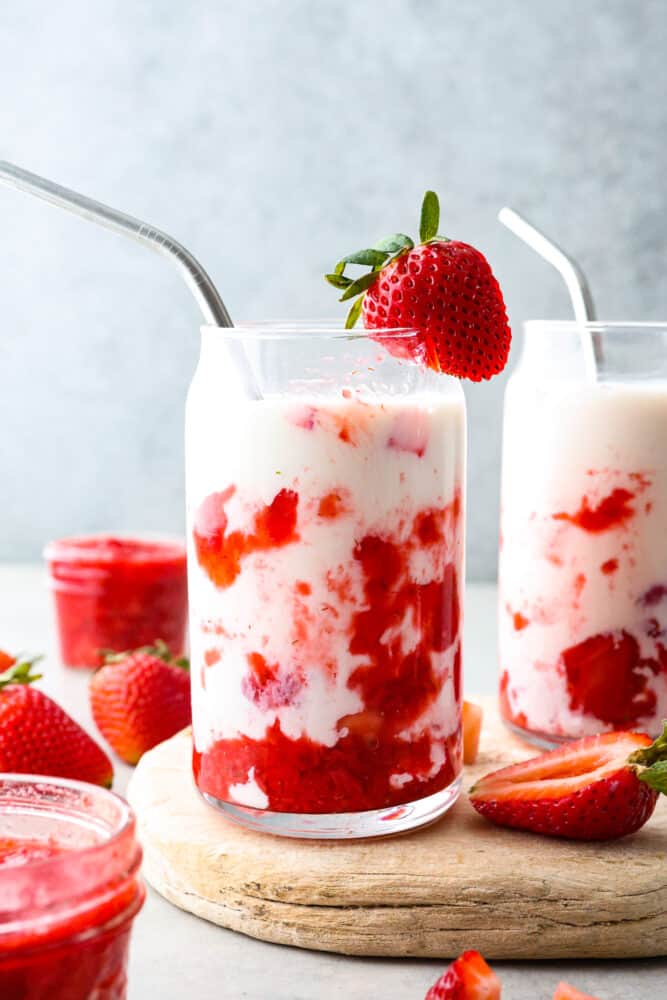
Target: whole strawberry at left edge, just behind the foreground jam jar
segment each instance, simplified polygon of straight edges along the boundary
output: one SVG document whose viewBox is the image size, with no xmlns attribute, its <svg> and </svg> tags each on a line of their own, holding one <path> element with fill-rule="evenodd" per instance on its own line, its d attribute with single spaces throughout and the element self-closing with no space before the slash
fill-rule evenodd
<svg viewBox="0 0 667 1000">
<path fill-rule="evenodd" d="M 32 682 L 35 660 L 0 653 L 0 771 L 46 774 L 111 787 L 111 761 L 88 733 Z"/>
</svg>

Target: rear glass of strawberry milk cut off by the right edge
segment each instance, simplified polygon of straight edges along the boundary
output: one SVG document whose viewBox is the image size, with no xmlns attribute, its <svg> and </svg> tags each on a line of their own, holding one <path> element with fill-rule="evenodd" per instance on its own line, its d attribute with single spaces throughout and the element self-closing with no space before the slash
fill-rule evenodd
<svg viewBox="0 0 667 1000">
<path fill-rule="evenodd" d="M 594 336 L 598 372 L 584 363 Z M 537 743 L 667 716 L 667 324 L 526 324 L 505 399 L 500 703 Z"/>
</svg>

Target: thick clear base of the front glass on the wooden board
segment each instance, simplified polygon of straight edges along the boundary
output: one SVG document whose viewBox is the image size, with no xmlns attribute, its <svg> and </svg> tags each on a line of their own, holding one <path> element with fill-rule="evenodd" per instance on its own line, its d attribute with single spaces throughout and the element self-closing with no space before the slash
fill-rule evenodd
<svg viewBox="0 0 667 1000">
<path fill-rule="evenodd" d="M 277 837 L 356 840 L 362 837 L 391 837 L 429 826 L 454 805 L 460 791 L 461 776 L 447 788 L 425 799 L 356 813 L 277 813 L 223 802 L 206 792 L 201 794 L 227 819 L 248 830 L 272 833 Z"/>
</svg>

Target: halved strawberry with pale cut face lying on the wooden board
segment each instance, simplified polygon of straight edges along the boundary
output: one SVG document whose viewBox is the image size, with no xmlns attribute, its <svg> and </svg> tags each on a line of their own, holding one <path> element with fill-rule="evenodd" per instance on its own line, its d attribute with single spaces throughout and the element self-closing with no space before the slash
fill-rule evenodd
<svg viewBox="0 0 667 1000">
<path fill-rule="evenodd" d="M 499 826 L 572 840 L 634 833 L 667 792 L 667 723 L 642 733 L 603 733 L 487 774 L 470 790 L 478 813 Z"/>
</svg>

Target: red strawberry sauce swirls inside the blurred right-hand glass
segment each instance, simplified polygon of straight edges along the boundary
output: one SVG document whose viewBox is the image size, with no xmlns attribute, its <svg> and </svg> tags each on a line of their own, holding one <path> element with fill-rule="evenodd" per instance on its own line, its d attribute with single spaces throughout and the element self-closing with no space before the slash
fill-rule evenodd
<svg viewBox="0 0 667 1000">
<path fill-rule="evenodd" d="M 638 522 L 643 525 L 653 511 L 653 500 L 643 496 L 651 486 L 651 477 L 633 472 L 624 477 L 622 486 L 584 494 L 576 511 L 551 515 L 551 521 L 561 522 L 568 533 L 558 534 L 547 557 L 559 572 L 568 574 L 560 603 L 549 609 L 544 594 L 539 600 L 533 594 L 527 615 L 506 607 L 515 632 L 528 633 L 535 623 L 553 627 L 572 616 L 570 642 L 549 649 L 548 655 L 545 645 L 544 656 L 535 665 L 536 678 L 558 679 L 571 716 L 589 726 L 598 724 L 600 730 L 652 731 L 660 721 L 657 692 L 667 679 L 667 585 L 659 581 L 648 588 L 636 586 L 636 579 L 647 579 L 642 562 L 652 561 L 642 548 L 638 529 Z M 560 554 L 557 562 L 555 551 Z M 600 552 L 607 557 L 600 559 Z M 586 572 L 575 573 L 575 568 Z M 612 615 L 605 616 L 607 605 L 613 607 Z M 605 617 L 609 627 L 600 628 Z M 597 628 L 592 625 L 596 619 Z M 522 729 L 539 730 L 522 687 L 512 669 L 502 672 L 502 714 Z"/>
</svg>

